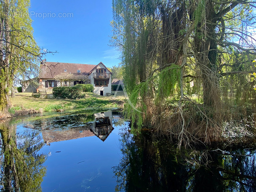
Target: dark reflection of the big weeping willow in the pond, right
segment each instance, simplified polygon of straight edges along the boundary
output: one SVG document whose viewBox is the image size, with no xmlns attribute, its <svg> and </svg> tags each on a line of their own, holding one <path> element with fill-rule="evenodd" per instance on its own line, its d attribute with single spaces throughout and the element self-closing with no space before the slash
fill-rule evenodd
<svg viewBox="0 0 256 192">
<path fill-rule="evenodd" d="M 239 191 L 256 189 L 256 153 L 179 150 L 149 135 L 121 133 L 123 158 L 114 167 L 116 191 Z M 245 156 L 250 155 L 250 156 Z"/>
</svg>

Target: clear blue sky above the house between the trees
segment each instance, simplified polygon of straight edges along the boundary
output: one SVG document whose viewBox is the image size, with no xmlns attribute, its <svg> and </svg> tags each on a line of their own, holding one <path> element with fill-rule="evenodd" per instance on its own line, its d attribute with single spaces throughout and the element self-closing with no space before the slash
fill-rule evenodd
<svg viewBox="0 0 256 192">
<path fill-rule="evenodd" d="M 31 0 L 29 13 L 37 44 L 58 52 L 48 54 L 47 61 L 120 63 L 119 53 L 109 46 L 112 0 Z"/>
</svg>

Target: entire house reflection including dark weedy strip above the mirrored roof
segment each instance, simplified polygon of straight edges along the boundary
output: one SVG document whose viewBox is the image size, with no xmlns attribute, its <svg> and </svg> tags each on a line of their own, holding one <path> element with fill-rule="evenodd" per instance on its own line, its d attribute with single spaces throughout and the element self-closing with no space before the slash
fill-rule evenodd
<svg viewBox="0 0 256 192">
<path fill-rule="evenodd" d="M 41 119 L 35 121 L 32 126 L 41 128 L 43 140 L 47 145 L 90 136 L 97 136 L 101 141 L 105 141 L 114 129 L 112 111 Z"/>
</svg>

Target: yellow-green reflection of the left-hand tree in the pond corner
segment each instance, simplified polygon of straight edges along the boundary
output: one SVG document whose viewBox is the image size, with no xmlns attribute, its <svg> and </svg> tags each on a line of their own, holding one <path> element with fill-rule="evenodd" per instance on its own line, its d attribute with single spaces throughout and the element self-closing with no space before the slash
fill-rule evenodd
<svg viewBox="0 0 256 192">
<path fill-rule="evenodd" d="M 14 125 L 0 124 L 1 187 L 6 192 L 38 192 L 46 168 L 46 155 L 38 154 L 42 138 L 35 131 L 16 136 Z M 20 141 L 20 142 L 19 142 Z"/>
</svg>

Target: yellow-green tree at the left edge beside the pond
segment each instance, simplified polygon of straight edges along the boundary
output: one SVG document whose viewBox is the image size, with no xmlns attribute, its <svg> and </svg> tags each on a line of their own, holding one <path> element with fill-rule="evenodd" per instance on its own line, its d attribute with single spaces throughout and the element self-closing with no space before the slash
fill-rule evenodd
<svg viewBox="0 0 256 192">
<path fill-rule="evenodd" d="M 40 49 L 33 38 L 29 0 L 0 1 L 0 111 L 9 106 L 13 80 L 38 70 Z"/>
</svg>

